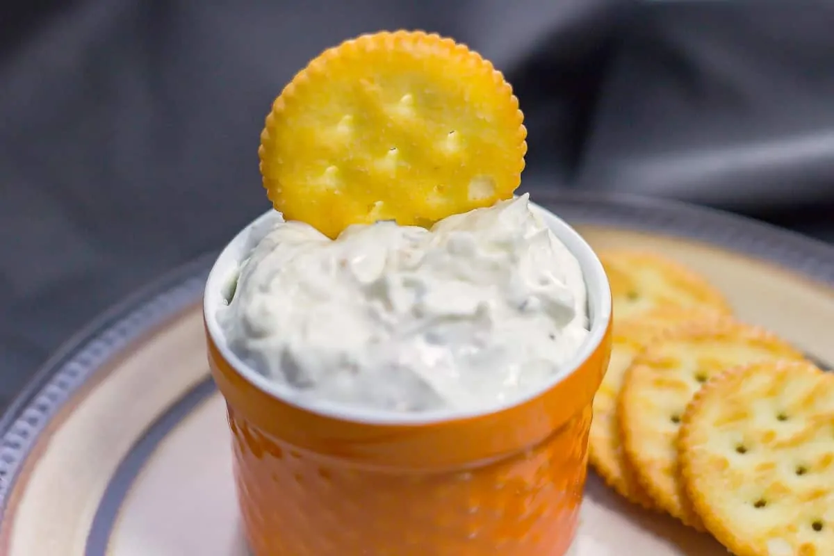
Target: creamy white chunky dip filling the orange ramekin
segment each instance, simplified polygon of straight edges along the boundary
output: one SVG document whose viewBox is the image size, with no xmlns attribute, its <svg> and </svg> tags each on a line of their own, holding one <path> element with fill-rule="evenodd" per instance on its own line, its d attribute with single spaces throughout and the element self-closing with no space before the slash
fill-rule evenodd
<svg viewBox="0 0 834 556">
<path fill-rule="evenodd" d="M 431 230 L 331 240 L 275 222 L 219 309 L 229 348 L 299 397 L 393 411 L 489 409 L 540 388 L 588 334 L 575 257 L 527 195 Z"/>
</svg>

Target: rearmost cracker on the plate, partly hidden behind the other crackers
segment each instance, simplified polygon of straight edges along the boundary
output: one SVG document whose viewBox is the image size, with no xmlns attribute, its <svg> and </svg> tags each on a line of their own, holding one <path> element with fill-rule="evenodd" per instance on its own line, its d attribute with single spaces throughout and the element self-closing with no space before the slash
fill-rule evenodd
<svg viewBox="0 0 834 556">
<path fill-rule="evenodd" d="M 611 286 L 614 326 L 630 326 L 658 309 L 711 308 L 730 315 L 726 298 L 705 278 L 656 253 L 610 249 L 599 253 Z"/>
</svg>

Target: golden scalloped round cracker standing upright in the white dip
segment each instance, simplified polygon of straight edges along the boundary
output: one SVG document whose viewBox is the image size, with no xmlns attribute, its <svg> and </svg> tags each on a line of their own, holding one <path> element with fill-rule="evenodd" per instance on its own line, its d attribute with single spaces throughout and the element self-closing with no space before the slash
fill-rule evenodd
<svg viewBox="0 0 834 556">
<path fill-rule="evenodd" d="M 275 100 L 259 149 L 290 220 L 429 226 L 512 197 L 526 130 L 509 83 L 450 38 L 362 35 L 329 48 Z"/>
</svg>

